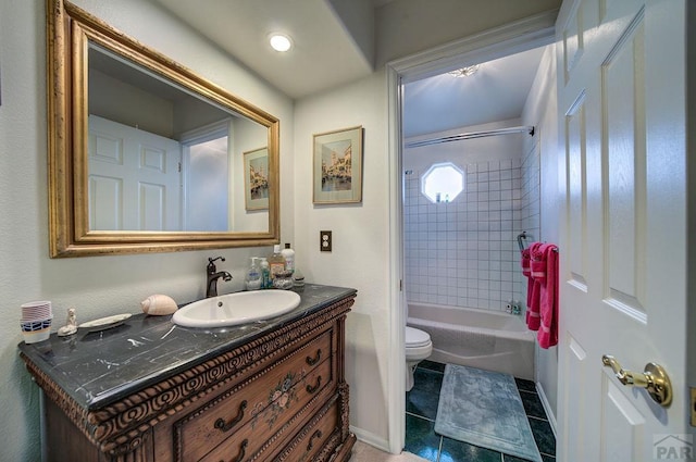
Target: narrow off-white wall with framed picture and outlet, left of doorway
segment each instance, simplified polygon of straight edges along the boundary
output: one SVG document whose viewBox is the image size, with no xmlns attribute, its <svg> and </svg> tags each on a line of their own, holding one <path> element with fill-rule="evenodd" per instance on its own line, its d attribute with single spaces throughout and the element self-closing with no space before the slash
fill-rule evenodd
<svg viewBox="0 0 696 462">
<path fill-rule="evenodd" d="M 348 314 L 346 376 L 350 423 L 358 437 L 387 448 L 389 345 L 387 98 L 383 72 L 295 108 L 296 265 L 309 282 L 353 287 Z M 363 200 L 312 204 L 313 134 L 362 125 Z M 333 251 L 319 251 L 319 232 L 333 230 Z"/>
</svg>

